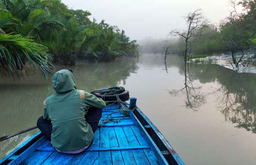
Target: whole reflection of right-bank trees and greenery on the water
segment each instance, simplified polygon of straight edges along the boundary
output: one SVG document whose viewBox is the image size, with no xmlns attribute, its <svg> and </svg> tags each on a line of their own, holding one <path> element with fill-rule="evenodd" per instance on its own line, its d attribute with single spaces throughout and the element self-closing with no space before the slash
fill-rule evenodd
<svg viewBox="0 0 256 165">
<path fill-rule="evenodd" d="M 237 73 L 222 66 L 211 64 L 192 64 L 189 70 L 191 72 L 189 77 L 194 80 L 198 79 L 200 83 L 216 81 L 221 85 L 208 94 L 216 95 L 216 108 L 223 114 L 225 121 L 236 124 L 237 128 L 244 128 L 256 133 L 255 74 Z M 203 102 L 200 97 L 198 102 Z"/>
</svg>

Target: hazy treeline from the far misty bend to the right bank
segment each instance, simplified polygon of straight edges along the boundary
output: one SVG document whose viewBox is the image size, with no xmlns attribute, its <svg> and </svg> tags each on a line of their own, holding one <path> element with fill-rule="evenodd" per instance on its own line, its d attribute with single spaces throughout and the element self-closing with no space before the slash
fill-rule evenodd
<svg viewBox="0 0 256 165">
<path fill-rule="evenodd" d="M 256 0 L 231 2 L 234 10 L 218 26 L 206 25 L 198 37 L 191 38 L 192 54 L 236 53 L 256 46 Z M 243 7 L 237 13 L 236 6 Z M 167 47 L 172 54 L 182 55 L 184 38 L 146 39 L 140 41 L 144 53 L 163 53 Z"/>
</svg>

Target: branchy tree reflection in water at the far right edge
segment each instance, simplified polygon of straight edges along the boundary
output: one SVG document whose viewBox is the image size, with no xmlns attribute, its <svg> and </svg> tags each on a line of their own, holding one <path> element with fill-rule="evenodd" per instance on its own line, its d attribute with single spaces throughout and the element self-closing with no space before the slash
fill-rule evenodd
<svg viewBox="0 0 256 165">
<path fill-rule="evenodd" d="M 247 74 L 247 81 L 244 82 L 245 76 L 235 72 L 231 74 L 229 84 L 217 90 L 217 108 L 224 115 L 225 121 L 237 124 L 236 128 L 256 133 L 256 91 L 255 84 L 250 82 L 255 75 Z"/>
</svg>

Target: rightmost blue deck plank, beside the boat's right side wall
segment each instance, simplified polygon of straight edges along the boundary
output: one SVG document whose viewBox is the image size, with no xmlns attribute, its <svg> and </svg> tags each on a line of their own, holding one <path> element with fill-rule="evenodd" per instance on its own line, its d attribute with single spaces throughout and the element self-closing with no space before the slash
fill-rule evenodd
<svg viewBox="0 0 256 165">
<path fill-rule="evenodd" d="M 131 129 L 141 145 L 148 145 L 146 139 L 143 137 L 144 134 L 138 129 L 137 126 L 131 126 Z M 143 152 L 145 153 L 151 165 L 157 165 L 157 158 L 152 150 L 145 149 Z"/>
</svg>

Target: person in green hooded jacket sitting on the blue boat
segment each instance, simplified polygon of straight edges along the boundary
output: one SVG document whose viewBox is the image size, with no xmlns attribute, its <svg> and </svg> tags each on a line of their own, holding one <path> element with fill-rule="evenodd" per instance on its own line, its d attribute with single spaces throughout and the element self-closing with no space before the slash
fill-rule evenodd
<svg viewBox="0 0 256 165">
<path fill-rule="evenodd" d="M 44 101 L 44 115 L 37 121 L 42 134 L 59 152 L 76 154 L 90 146 L 106 103 L 76 89 L 71 70 L 63 69 L 52 77 L 55 94 Z"/>
</svg>

